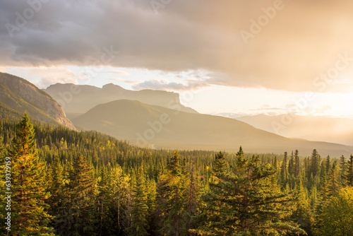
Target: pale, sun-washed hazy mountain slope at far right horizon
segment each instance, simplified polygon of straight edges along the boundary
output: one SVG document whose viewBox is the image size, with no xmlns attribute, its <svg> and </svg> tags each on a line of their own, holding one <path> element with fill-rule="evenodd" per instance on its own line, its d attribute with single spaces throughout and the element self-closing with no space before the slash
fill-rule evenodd
<svg viewBox="0 0 353 236">
<path fill-rule="evenodd" d="M 353 146 L 353 119 L 282 114 L 237 117 L 239 121 L 265 131 L 292 138 L 306 138 Z"/>
</svg>

